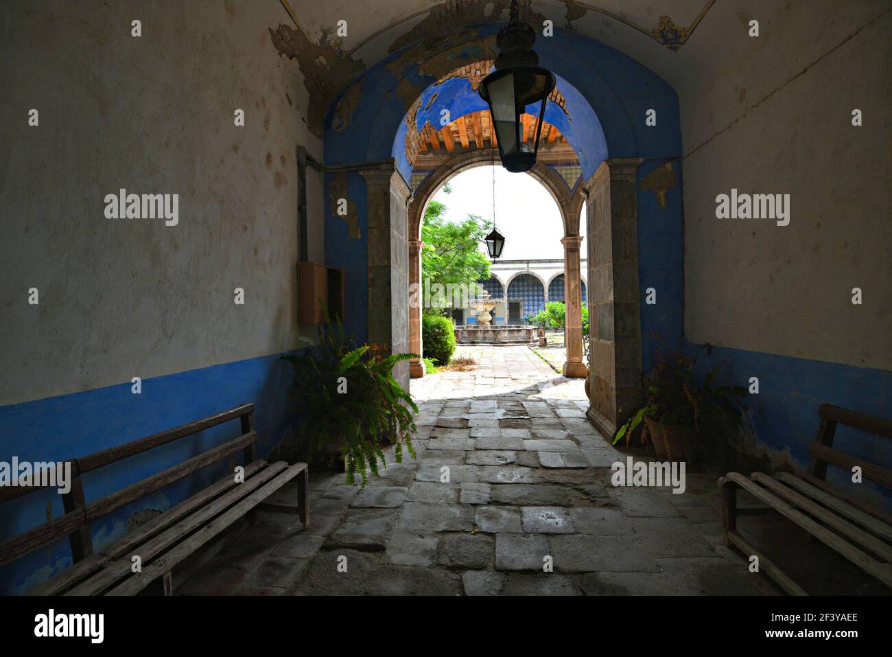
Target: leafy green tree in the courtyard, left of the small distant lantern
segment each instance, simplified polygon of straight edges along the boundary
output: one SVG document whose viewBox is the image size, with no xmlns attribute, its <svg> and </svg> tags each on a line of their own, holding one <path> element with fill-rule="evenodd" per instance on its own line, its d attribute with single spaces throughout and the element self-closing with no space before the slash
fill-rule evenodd
<svg viewBox="0 0 892 657">
<path fill-rule="evenodd" d="M 430 279 L 432 286 L 439 283 L 444 288 L 462 284 L 470 287 L 479 279 L 489 279 L 490 261 L 479 245 L 491 229 L 490 222 L 468 214 L 467 220 L 451 223 L 443 216 L 445 212 L 446 205 L 440 201 L 431 201 L 425 210 L 421 228 L 425 243 L 421 253 L 423 278 Z"/>
</svg>

